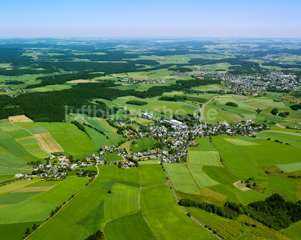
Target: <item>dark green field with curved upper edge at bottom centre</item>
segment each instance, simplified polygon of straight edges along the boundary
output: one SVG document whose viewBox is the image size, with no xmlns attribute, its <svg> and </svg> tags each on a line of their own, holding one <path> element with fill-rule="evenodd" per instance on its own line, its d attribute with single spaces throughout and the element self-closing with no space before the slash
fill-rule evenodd
<svg viewBox="0 0 301 240">
<path fill-rule="evenodd" d="M 121 228 L 124 223 L 130 223 L 126 228 Z M 104 234 L 107 240 L 156 240 L 154 233 L 151 231 L 150 226 L 145 222 L 141 211 L 138 213 L 120 217 L 108 222 L 104 228 Z"/>
</svg>

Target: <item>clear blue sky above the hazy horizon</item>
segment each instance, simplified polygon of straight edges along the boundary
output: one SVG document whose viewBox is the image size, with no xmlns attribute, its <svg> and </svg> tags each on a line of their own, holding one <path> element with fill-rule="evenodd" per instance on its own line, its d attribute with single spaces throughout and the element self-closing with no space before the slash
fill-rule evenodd
<svg viewBox="0 0 301 240">
<path fill-rule="evenodd" d="M 2 1 L 0 38 L 301 38 L 301 1 Z"/>
</svg>

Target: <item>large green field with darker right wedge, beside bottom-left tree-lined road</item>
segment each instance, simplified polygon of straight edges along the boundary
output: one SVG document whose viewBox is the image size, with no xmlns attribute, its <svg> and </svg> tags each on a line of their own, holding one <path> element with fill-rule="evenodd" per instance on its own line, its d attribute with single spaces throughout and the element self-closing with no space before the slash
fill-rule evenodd
<svg viewBox="0 0 301 240">
<path fill-rule="evenodd" d="M 28 239 L 41 239 L 43 235 L 43 239 L 51 240 L 57 237 L 57 231 L 64 232 L 66 239 L 87 238 L 100 228 L 103 219 L 103 199 L 107 195 L 107 191 L 86 187 Z"/>
</svg>

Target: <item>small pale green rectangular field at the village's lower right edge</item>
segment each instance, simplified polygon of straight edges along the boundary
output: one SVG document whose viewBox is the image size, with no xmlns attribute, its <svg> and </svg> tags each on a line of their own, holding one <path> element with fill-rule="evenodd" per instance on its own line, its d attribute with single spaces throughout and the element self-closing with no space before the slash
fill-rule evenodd
<svg viewBox="0 0 301 240">
<path fill-rule="evenodd" d="M 218 152 L 188 151 L 188 161 L 197 165 L 222 166 Z"/>
</svg>

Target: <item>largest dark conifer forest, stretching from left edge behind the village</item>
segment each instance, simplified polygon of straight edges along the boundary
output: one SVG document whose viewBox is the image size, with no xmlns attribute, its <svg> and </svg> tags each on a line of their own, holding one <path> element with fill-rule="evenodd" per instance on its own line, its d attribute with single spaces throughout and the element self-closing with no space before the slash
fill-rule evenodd
<svg viewBox="0 0 301 240">
<path fill-rule="evenodd" d="M 107 115 L 114 114 L 116 109 L 90 101 L 99 98 L 112 101 L 124 96 L 147 98 L 161 96 L 165 92 L 184 90 L 184 87 L 178 84 L 151 87 L 146 91 L 112 88 L 118 85 L 112 82 L 79 83 L 67 90 L 26 93 L 15 98 L 0 95 L 0 119 L 25 114 L 37 122 L 61 122 L 65 120 L 65 106 L 67 113 L 75 113 L 77 109 L 81 110 L 82 106 L 85 106 L 87 109 L 81 110 L 82 113 L 106 118 Z"/>
</svg>

